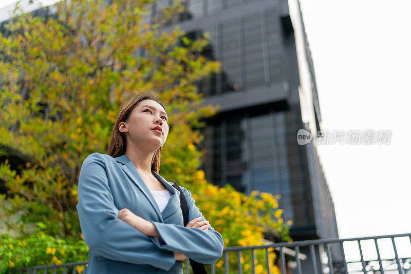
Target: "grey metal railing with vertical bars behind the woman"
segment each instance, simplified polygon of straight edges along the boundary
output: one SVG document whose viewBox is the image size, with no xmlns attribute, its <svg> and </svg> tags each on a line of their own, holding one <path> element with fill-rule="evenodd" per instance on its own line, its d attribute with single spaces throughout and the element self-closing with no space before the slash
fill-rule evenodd
<svg viewBox="0 0 411 274">
<path fill-rule="evenodd" d="M 385 244 L 381 241 L 385 240 Z M 402 240 L 401 251 L 405 256 L 401 256 L 398 251 L 398 243 Z M 368 243 L 367 243 L 368 241 Z M 378 242 L 380 241 L 380 243 Z M 389 242 L 389 247 L 387 246 Z M 370 243 L 373 250 L 370 249 Z M 349 247 L 351 245 L 351 247 Z M 380 245 L 384 245 L 381 249 Z M 391 249 L 392 247 L 392 249 Z M 406 248 L 405 248 L 406 247 Z M 255 274 L 255 250 L 265 250 L 266 273 L 270 274 L 269 248 L 274 248 L 276 253 L 275 265 L 278 266 L 282 274 L 348 274 L 348 273 L 411 273 L 411 233 L 385 235 L 376 237 L 362 237 L 349 239 L 320 239 L 309 241 L 296 241 L 292 243 L 273 243 L 257 246 L 235 246 L 227 247 L 223 250 L 223 266 L 219 267 L 218 272 L 225 274 L 243 272 L 241 263 L 241 252 L 249 250 L 252 257 L 251 271 Z M 393 252 L 387 252 L 389 251 Z M 366 252 L 365 252 L 366 251 Z M 382 251 L 384 256 L 382 255 Z M 236 252 L 236 269 L 229 269 L 229 253 Z M 273 252 L 273 251 L 271 251 Z M 341 258 L 332 258 L 332 254 L 342 252 Z M 387 253 L 390 253 L 389 255 Z M 352 258 L 352 259 L 351 259 Z M 220 260 L 221 260 L 220 259 Z M 63 268 L 63 273 L 77 273 L 77 266 L 83 266 L 86 273 L 88 262 L 73 262 L 61 265 L 44 265 L 33 268 L 15 269 L 12 273 L 57 273 L 58 269 Z M 210 265 L 211 274 L 216 273 L 216 264 Z M 189 259 L 185 260 L 185 273 L 190 273 Z"/>
</svg>

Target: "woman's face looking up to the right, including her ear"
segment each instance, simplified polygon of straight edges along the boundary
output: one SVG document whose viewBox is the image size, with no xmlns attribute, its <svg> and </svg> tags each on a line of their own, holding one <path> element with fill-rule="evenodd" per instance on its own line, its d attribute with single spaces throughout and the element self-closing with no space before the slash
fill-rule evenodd
<svg viewBox="0 0 411 274">
<path fill-rule="evenodd" d="M 130 113 L 128 119 L 119 124 L 119 130 L 125 133 L 127 146 L 143 145 L 147 150 L 157 150 L 165 143 L 169 133 L 167 114 L 164 108 L 153 100 L 140 101 Z M 159 127 L 160 131 L 154 130 Z M 125 130 L 127 129 L 127 130 Z"/>
</svg>

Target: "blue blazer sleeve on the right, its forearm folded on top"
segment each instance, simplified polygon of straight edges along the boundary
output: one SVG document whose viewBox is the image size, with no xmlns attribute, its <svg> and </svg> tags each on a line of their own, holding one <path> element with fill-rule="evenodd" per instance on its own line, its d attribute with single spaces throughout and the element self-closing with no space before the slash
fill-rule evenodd
<svg viewBox="0 0 411 274">
<path fill-rule="evenodd" d="M 201 211 L 194 203 L 190 190 L 180 188 L 188 201 L 189 221 L 198 217 L 205 221 L 206 218 L 202 216 Z M 152 223 L 157 228 L 160 237 L 150 238 L 161 249 L 181 252 L 202 264 L 213 264 L 222 256 L 224 241 L 221 234 L 211 226 L 209 230 L 202 230 L 198 227 L 185 227 L 160 222 Z"/>
</svg>

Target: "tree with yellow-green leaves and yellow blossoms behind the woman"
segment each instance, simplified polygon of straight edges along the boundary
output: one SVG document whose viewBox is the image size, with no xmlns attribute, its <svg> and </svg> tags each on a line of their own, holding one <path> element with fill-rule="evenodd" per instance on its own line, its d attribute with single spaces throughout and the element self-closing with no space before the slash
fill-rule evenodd
<svg viewBox="0 0 411 274">
<path fill-rule="evenodd" d="M 229 190 L 244 204 L 242 210 L 254 215 L 248 229 L 268 229 L 289 240 L 286 225 L 258 216 L 257 201 L 246 203 L 248 198 L 233 188 L 216 188 L 197 170 L 204 153 L 196 149 L 203 140 L 198 128 L 204 124 L 199 121 L 217 109 L 201 106 L 196 84 L 218 73 L 220 63 L 199 54 L 209 43 L 208 33 L 192 41 L 178 26 L 171 32 L 159 31 L 183 12 L 180 0 L 148 24 L 145 15 L 152 3 L 61 1 L 55 4 L 55 13 L 43 17 L 18 14 L 16 8 L 5 25 L 6 32 L 0 35 L 0 144 L 29 159 L 21 169 L 13 168 L 8 159 L 0 165 L 0 179 L 8 188 L 1 196 L 0 212 L 20 218 L 7 222 L 8 228 L 23 238 L 40 230 L 77 243 L 82 237 L 76 211 L 82 162 L 90 153 L 106 153 L 120 105 L 150 89 L 160 95 L 169 113 L 162 175 L 198 193 L 196 202 L 216 229 L 223 230 L 231 221 L 207 209 L 207 203 L 213 201 L 211 208 L 228 212 L 236 209 L 233 202 L 231 208 L 207 193 Z M 6 150 L 3 154 L 9 155 Z M 263 213 L 270 210 L 260 208 Z M 244 230 L 244 220 L 236 225 Z M 237 235 L 237 240 L 247 239 L 245 235 Z M 256 240 L 263 238 L 258 235 Z M 230 237 L 223 234 L 234 239 Z"/>
</svg>

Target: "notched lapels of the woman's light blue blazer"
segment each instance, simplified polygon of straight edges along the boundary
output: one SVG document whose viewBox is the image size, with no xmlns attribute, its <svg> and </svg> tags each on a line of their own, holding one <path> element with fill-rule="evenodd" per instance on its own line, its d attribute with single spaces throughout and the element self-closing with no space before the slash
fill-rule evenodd
<svg viewBox="0 0 411 274">
<path fill-rule="evenodd" d="M 172 193 L 169 202 L 163 209 L 160 211 L 158 204 L 151 193 L 150 189 L 148 189 L 147 185 L 144 183 L 143 178 L 141 177 L 140 173 L 138 172 L 137 168 L 134 166 L 133 162 L 127 157 L 127 155 L 123 154 L 114 158 L 118 163 L 121 163 L 121 168 L 127 174 L 128 178 L 132 180 L 132 182 L 140 189 L 140 191 L 147 197 L 148 201 L 150 201 L 151 205 L 155 209 L 158 218 L 163 223 L 163 219 L 169 217 L 173 214 L 176 210 L 180 208 L 180 192 L 173 187 L 173 185 L 167 182 L 164 178 L 160 176 L 157 172 L 152 170 L 153 175 L 164 184 L 164 186 Z M 177 200 L 177 201 L 176 201 Z"/>
</svg>

